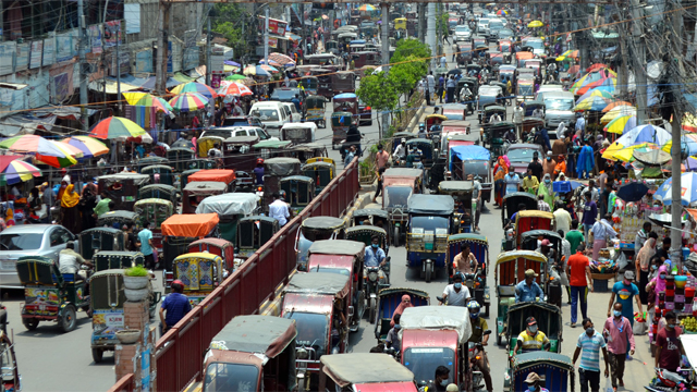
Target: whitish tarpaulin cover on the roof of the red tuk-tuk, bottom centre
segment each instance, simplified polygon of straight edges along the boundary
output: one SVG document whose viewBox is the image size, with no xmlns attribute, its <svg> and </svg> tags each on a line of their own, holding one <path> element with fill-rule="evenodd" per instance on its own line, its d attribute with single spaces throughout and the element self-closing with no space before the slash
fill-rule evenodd
<svg viewBox="0 0 697 392">
<path fill-rule="evenodd" d="M 469 311 L 463 306 L 415 306 L 404 309 L 400 319 L 402 330 L 452 330 L 460 336 L 460 343 L 472 336 Z"/>
</svg>

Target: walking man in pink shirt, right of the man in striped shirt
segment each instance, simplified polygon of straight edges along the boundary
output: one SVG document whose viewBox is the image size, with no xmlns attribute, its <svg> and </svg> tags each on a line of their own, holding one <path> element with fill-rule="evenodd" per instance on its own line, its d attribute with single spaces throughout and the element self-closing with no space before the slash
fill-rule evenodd
<svg viewBox="0 0 697 392">
<path fill-rule="evenodd" d="M 610 370 L 612 388 L 624 387 L 624 363 L 629 355 L 634 355 L 636 344 L 629 320 L 623 316 L 622 304 L 614 304 L 612 316 L 606 320 L 602 334 L 608 340 L 608 351 L 610 351 Z M 633 317 L 634 318 L 634 317 Z M 627 347 L 629 342 L 629 347 Z M 629 348 L 629 350 L 627 350 Z"/>
</svg>

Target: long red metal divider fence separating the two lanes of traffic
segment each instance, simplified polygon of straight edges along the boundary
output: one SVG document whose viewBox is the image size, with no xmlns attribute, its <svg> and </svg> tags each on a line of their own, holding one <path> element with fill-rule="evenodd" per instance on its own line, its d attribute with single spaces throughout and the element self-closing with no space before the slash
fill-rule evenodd
<svg viewBox="0 0 697 392">
<path fill-rule="evenodd" d="M 295 233 L 303 220 L 316 216 L 341 217 L 353 205 L 360 184 L 358 159 L 354 159 L 292 221 L 228 277 L 218 289 L 158 340 L 155 391 L 182 391 L 200 380 L 206 350 L 213 336 L 240 315 L 252 315 L 288 283 L 295 269 Z M 109 392 L 136 390 L 133 375 L 121 378 Z"/>
</svg>

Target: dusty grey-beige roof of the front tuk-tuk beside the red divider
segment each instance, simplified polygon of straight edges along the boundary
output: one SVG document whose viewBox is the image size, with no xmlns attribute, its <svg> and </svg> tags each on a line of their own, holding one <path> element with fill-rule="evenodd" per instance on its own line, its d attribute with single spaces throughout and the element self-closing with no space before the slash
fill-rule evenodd
<svg viewBox="0 0 697 392">
<path fill-rule="evenodd" d="M 237 316 L 210 342 L 211 350 L 261 354 L 273 358 L 295 341 L 295 321 L 272 316 Z"/>
</svg>

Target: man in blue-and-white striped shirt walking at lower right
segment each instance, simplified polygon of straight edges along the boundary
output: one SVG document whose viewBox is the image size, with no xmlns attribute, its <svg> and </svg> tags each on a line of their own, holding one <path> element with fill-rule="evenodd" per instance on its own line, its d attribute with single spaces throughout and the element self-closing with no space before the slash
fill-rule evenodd
<svg viewBox="0 0 697 392">
<path fill-rule="evenodd" d="M 576 351 L 572 364 L 576 365 L 576 360 L 580 355 L 580 365 L 578 366 L 578 381 L 580 382 L 580 392 L 599 392 L 600 391 L 600 350 L 606 362 L 606 378 L 610 377 L 608 359 L 608 350 L 604 338 L 594 328 L 592 321 L 585 318 L 582 322 L 585 331 L 578 336 L 576 342 Z"/>
</svg>

